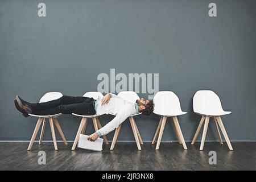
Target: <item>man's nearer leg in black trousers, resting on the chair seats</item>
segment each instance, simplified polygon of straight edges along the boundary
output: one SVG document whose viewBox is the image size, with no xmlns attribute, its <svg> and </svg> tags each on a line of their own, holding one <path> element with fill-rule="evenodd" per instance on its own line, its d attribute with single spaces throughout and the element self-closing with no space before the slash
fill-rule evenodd
<svg viewBox="0 0 256 182">
<path fill-rule="evenodd" d="M 96 111 L 94 105 L 92 104 L 92 99 L 78 103 L 78 104 L 68 104 L 68 105 L 57 105 L 49 109 L 39 109 L 35 110 L 32 114 L 36 115 L 52 115 L 52 114 L 81 114 L 81 115 L 94 115 Z"/>
</svg>

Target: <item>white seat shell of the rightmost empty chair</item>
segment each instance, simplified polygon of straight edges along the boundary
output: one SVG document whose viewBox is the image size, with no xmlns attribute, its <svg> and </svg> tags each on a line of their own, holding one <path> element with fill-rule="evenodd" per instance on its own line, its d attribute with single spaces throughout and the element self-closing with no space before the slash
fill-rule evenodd
<svg viewBox="0 0 256 182">
<path fill-rule="evenodd" d="M 195 113 L 218 113 L 224 111 L 220 97 L 212 90 L 199 90 L 193 97 L 193 110 Z"/>
</svg>

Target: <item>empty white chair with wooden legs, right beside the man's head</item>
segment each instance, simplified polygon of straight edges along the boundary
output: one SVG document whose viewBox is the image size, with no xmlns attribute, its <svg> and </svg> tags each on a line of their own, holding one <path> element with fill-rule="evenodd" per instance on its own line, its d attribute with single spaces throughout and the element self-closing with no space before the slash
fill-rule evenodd
<svg viewBox="0 0 256 182">
<path fill-rule="evenodd" d="M 168 117 L 172 118 L 174 123 L 174 129 L 177 136 L 177 140 L 180 144 L 183 144 L 184 150 L 187 150 L 183 134 L 180 129 L 179 122 L 177 120 L 177 115 L 183 115 L 187 112 L 183 112 L 180 107 L 179 98 L 175 93 L 171 91 L 160 91 L 154 96 L 155 109 L 153 113 L 160 115 L 160 121 L 156 129 L 152 144 L 155 143 L 156 137 L 158 137 L 158 142 L 156 143 L 155 150 L 159 150 L 160 142 L 163 136 L 164 126 L 166 125 L 166 119 Z"/>
</svg>

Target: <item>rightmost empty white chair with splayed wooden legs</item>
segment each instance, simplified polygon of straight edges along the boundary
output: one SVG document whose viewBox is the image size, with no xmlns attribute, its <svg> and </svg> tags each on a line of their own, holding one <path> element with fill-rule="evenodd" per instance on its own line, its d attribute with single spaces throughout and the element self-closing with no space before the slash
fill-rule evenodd
<svg viewBox="0 0 256 182">
<path fill-rule="evenodd" d="M 229 141 L 228 134 L 226 133 L 225 127 L 221 120 L 221 115 L 230 114 L 230 111 L 224 111 L 221 106 L 220 98 L 217 96 L 216 93 L 214 93 L 212 90 L 199 90 L 195 93 L 195 96 L 193 97 L 193 110 L 195 113 L 202 116 L 201 121 L 199 123 L 199 126 L 197 127 L 196 134 L 192 140 L 191 144 L 195 144 L 196 139 L 200 133 L 200 129 L 203 126 L 204 123 L 204 130 L 203 135 L 201 139 L 201 146 L 200 150 L 203 150 L 204 148 L 204 141 L 205 136 L 207 134 L 207 128 L 209 124 L 210 117 L 213 117 L 214 125 L 217 130 L 218 139 L 220 140 L 220 144 L 222 143 L 220 130 L 218 129 L 218 125 L 220 126 L 220 129 L 224 135 L 224 138 L 226 140 L 226 143 L 228 144 L 229 150 L 233 150 L 232 145 Z"/>
</svg>

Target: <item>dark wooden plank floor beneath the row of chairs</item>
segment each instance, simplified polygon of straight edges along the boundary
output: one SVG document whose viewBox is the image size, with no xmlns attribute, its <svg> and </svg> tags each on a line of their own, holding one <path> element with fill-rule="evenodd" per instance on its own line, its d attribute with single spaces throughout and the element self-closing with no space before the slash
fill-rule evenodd
<svg viewBox="0 0 256 182">
<path fill-rule="evenodd" d="M 226 143 L 205 143 L 204 151 L 187 143 L 184 151 L 178 143 L 161 143 L 160 150 L 144 143 L 142 151 L 135 143 L 117 143 L 114 151 L 110 145 L 102 152 L 82 149 L 71 151 L 72 143 L 34 143 L 27 151 L 28 143 L 0 143 L 0 170 L 256 170 L 256 142 L 233 142 L 234 151 Z M 38 152 L 46 152 L 46 165 L 38 164 Z M 210 165 L 209 151 L 217 152 L 217 164 Z"/>
</svg>

